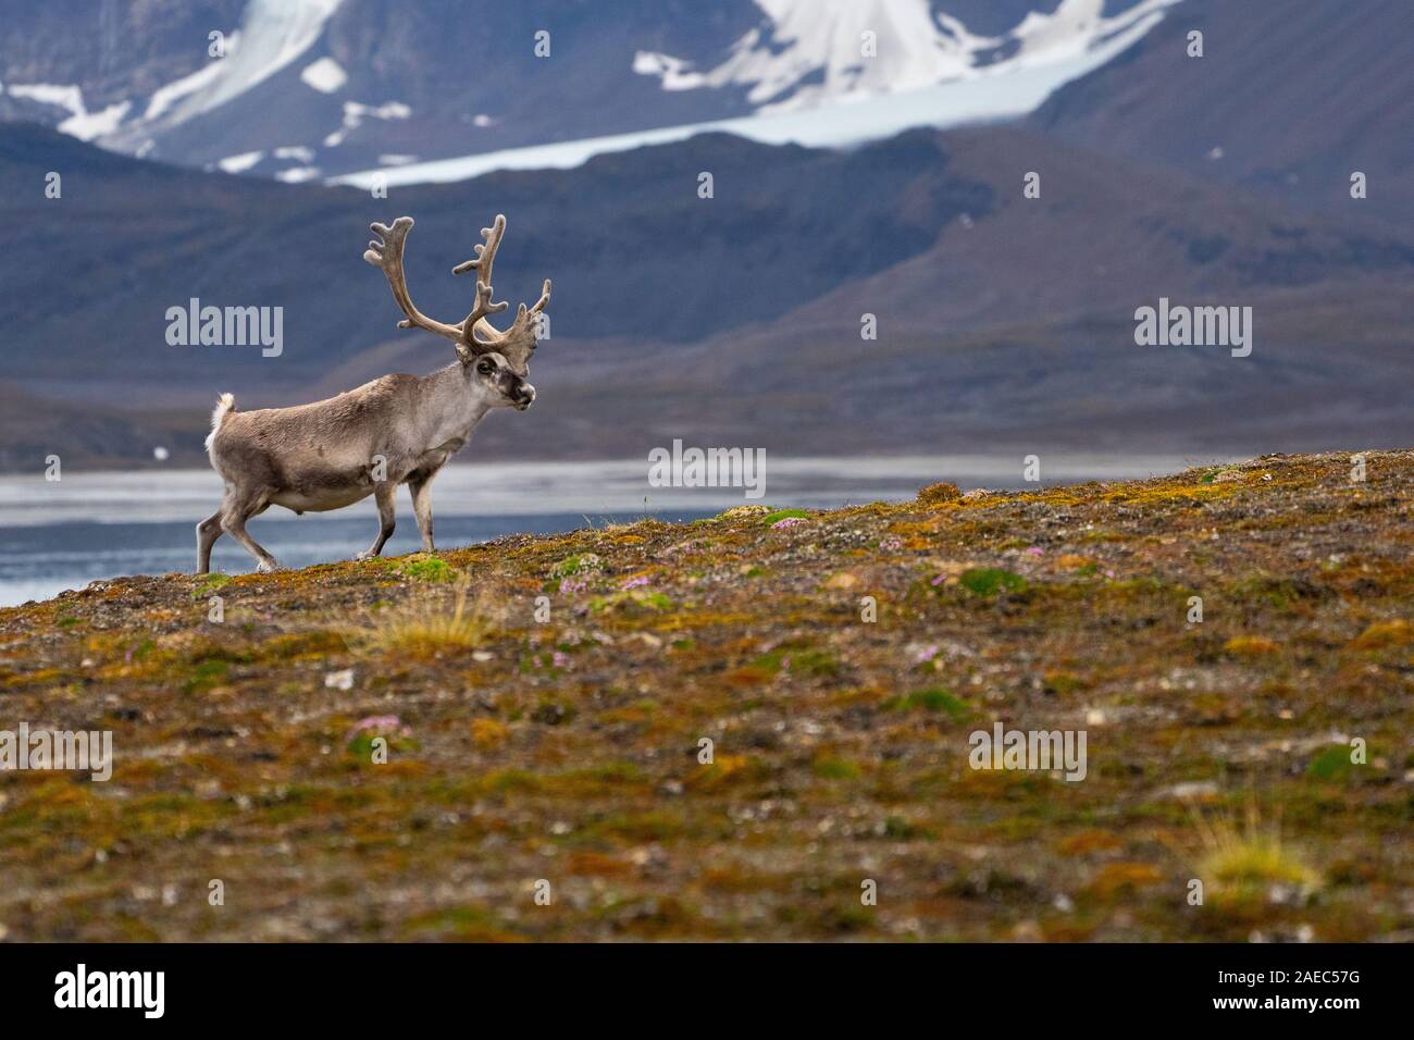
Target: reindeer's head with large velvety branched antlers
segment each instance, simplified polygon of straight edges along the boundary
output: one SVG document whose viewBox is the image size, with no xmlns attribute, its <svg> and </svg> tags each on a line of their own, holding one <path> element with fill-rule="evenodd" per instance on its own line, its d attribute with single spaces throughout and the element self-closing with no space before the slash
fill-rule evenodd
<svg viewBox="0 0 1414 1040">
<path fill-rule="evenodd" d="M 465 260 L 451 269 L 452 275 L 465 275 L 468 270 L 477 272 L 477 297 L 471 313 L 455 325 L 436 321 L 413 306 L 413 297 L 407 294 L 407 277 L 403 272 L 403 249 L 407 242 L 407 232 L 413 229 L 411 216 L 399 216 L 389 228 L 383 224 L 369 225 L 380 241 L 369 242 L 363 259 L 375 267 L 382 267 L 387 276 L 387 284 L 393 289 L 393 299 L 403 308 L 407 317 L 397 323 L 399 328 L 424 328 L 428 333 L 444 335 L 457 345 L 457 357 L 469 369 L 478 358 L 501 355 L 505 366 L 519 379 L 525 379 L 530 368 L 530 354 L 536 348 L 537 316 L 550 303 L 550 279 L 544 280 L 544 289 L 533 307 L 523 303 L 516 310 L 516 318 L 510 328 L 499 331 L 489 321 L 488 314 L 503 311 L 508 304 L 491 301 L 491 266 L 496 260 L 496 249 L 501 246 L 501 236 L 506 231 L 506 218 L 496 215 L 489 228 L 481 229 L 481 236 L 486 242 L 477 243 L 477 258 Z M 499 366 L 499 365 L 498 365 Z M 484 375 L 484 374 L 482 374 Z"/>
</svg>

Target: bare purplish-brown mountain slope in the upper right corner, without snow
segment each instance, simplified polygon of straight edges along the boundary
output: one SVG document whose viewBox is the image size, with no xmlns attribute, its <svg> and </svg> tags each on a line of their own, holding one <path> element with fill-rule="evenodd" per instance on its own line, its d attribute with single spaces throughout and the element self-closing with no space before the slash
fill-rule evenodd
<svg viewBox="0 0 1414 1040">
<path fill-rule="evenodd" d="M 1203 33 L 1203 57 L 1188 34 Z M 1345 211 L 1414 215 L 1414 33 L 1403 0 L 1185 0 L 1124 58 L 1058 91 L 1032 126 L 1086 149 Z"/>
</svg>

